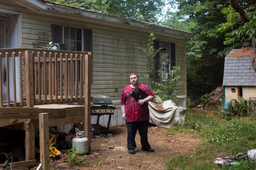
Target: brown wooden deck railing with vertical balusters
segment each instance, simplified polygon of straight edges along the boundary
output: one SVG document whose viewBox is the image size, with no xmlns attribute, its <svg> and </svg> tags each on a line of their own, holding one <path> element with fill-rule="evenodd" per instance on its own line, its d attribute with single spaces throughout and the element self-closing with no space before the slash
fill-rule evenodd
<svg viewBox="0 0 256 170">
<path fill-rule="evenodd" d="M 0 107 L 84 101 L 85 59 L 90 55 L 90 52 L 0 49 Z"/>
</svg>

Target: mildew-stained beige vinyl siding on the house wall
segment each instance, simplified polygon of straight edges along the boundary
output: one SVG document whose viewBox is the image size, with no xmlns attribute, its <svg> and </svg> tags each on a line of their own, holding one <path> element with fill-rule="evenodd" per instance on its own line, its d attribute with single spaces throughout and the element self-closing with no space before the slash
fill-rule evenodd
<svg viewBox="0 0 256 170">
<path fill-rule="evenodd" d="M 0 0 L 3 2 L 2 0 Z M 6 8 L 10 7 L 6 5 Z M 13 7 L 10 7 L 13 8 Z M 22 47 L 34 48 L 32 42 L 37 41 L 41 46 L 51 41 L 51 25 L 70 24 L 93 30 L 93 82 L 92 95 L 110 96 L 112 100 L 120 100 L 123 88 L 130 84 L 129 74 L 137 72 L 140 83 L 148 84 L 143 79 L 146 73 L 146 55 L 138 47 L 147 48 L 147 40 L 152 32 L 145 28 L 136 28 L 129 24 L 110 24 L 104 21 L 94 22 L 91 19 L 83 22 L 60 17 L 42 16 L 25 8 L 14 7 L 23 13 Z M 80 19 L 81 20 L 81 19 Z M 180 81 L 184 82 L 179 88 L 178 95 L 186 95 L 186 42 L 185 38 L 162 32 L 154 32 L 156 39 L 175 43 L 176 66 Z M 118 91 L 115 92 L 114 89 Z"/>
</svg>

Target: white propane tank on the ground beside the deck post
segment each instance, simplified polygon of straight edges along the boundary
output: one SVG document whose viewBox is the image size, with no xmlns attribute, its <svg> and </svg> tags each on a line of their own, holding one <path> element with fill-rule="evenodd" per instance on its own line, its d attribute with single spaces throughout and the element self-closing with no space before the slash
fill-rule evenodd
<svg viewBox="0 0 256 170">
<path fill-rule="evenodd" d="M 72 148 L 76 147 L 76 153 L 79 153 L 79 151 L 82 151 L 82 155 L 86 154 L 88 152 L 88 139 L 84 136 L 84 131 L 78 131 L 76 133 L 76 137 L 72 140 Z"/>
</svg>

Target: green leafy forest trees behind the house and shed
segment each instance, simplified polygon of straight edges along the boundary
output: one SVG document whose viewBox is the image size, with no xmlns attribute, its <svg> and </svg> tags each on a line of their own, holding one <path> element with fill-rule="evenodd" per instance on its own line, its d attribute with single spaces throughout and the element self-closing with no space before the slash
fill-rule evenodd
<svg viewBox="0 0 256 170">
<path fill-rule="evenodd" d="M 238 41 L 232 44 L 229 43 L 232 37 L 226 37 L 225 34 L 246 23 L 241 14 L 244 12 L 246 17 L 255 12 L 256 0 L 50 1 L 194 33 L 194 38 L 187 39 L 186 49 L 188 96 L 200 98 L 221 86 L 225 56 L 232 49 L 252 46 L 252 38 L 246 36 L 247 31 L 243 35 L 239 34 Z M 233 4 L 232 7 L 230 4 Z M 253 17 L 255 20 L 256 16 Z M 255 35 L 253 24 L 251 32 Z"/>
</svg>

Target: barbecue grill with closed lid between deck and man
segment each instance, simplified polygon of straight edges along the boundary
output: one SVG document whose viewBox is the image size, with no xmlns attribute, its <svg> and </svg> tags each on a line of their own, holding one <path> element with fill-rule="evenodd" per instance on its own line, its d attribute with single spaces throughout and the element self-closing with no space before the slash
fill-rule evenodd
<svg viewBox="0 0 256 170">
<path fill-rule="evenodd" d="M 108 126 L 106 133 L 109 133 L 109 125 L 111 116 L 115 113 L 115 104 L 112 103 L 109 96 L 92 95 L 91 96 L 91 116 L 98 116 L 97 125 L 99 124 L 100 116 L 109 115 Z"/>
</svg>

